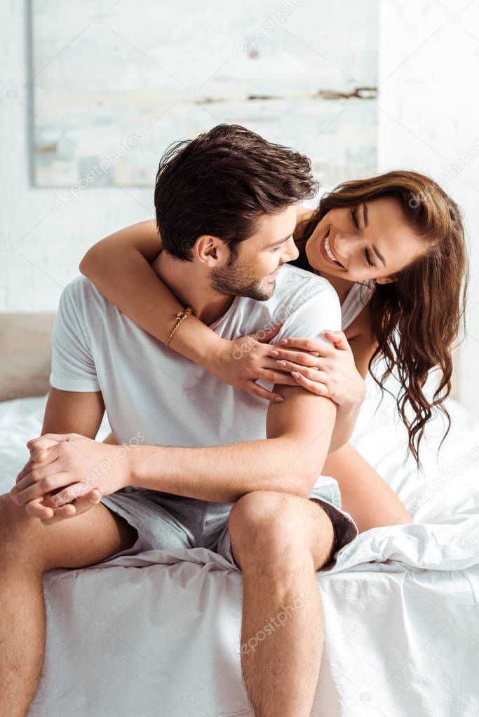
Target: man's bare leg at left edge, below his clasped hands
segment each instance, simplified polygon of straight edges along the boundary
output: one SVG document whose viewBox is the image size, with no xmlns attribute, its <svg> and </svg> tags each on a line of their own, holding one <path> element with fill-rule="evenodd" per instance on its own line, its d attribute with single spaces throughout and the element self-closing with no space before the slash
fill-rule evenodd
<svg viewBox="0 0 479 717">
<path fill-rule="evenodd" d="M 101 503 L 44 526 L 9 495 L 0 497 L 0 715 L 25 717 L 37 692 L 46 637 L 42 573 L 100 563 L 136 538 Z"/>
</svg>

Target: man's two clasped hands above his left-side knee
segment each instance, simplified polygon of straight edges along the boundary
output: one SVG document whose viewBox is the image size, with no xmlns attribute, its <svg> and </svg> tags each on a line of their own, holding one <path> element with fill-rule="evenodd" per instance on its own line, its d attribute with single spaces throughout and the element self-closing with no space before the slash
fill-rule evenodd
<svg viewBox="0 0 479 717">
<path fill-rule="evenodd" d="M 32 460 L 17 476 L 10 495 L 32 517 L 53 518 L 54 508 L 77 500 L 81 511 L 75 505 L 65 505 L 61 515 L 57 510 L 60 519 L 70 518 L 129 483 L 125 446 L 105 445 L 76 433 L 47 434 L 27 446 Z"/>
</svg>

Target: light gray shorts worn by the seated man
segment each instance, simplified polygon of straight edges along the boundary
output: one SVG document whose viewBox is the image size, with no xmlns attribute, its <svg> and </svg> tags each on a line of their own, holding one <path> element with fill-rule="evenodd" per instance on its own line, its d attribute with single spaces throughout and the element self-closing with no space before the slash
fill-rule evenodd
<svg viewBox="0 0 479 717">
<path fill-rule="evenodd" d="M 330 570 L 336 563 L 338 551 L 351 543 L 359 531 L 351 516 L 341 510 L 341 493 L 334 478 L 323 475 L 318 478 L 309 500 L 321 505 L 333 523 L 333 548 L 322 568 Z M 131 485 L 106 495 L 101 503 L 124 518 L 138 533 L 131 548 L 115 553 L 103 563 L 148 550 L 207 548 L 240 570 L 232 555 L 228 530 L 228 516 L 234 503 L 210 503 Z"/>
</svg>

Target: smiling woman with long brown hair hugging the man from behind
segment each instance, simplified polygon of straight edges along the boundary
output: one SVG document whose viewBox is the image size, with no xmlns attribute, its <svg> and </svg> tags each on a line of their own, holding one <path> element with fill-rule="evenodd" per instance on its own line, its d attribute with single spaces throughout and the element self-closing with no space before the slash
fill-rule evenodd
<svg viewBox="0 0 479 717">
<path fill-rule="evenodd" d="M 343 332 L 326 334 L 336 344 L 326 360 L 320 341 L 291 338 L 271 346 L 274 331 L 248 341 L 225 341 L 200 320 L 181 322 L 169 346 L 222 381 L 270 400 L 274 392 L 255 383 L 297 382 L 330 397 L 348 411 L 364 378 L 382 357 L 382 386 L 393 370 L 399 379 L 397 408 L 419 465 L 418 448 L 435 409 L 447 420 L 452 343 L 464 317 L 467 257 L 460 211 L 435 181 L 410 171 L 392 171 L 346 181 L 321 198 L 318 209 L 297 208 L 296 264 L 326 277 L 341 301 Z M 184 307 L 153 271 L 161 251 L 156 222 L 141 222 L 111 234 L 87 252 L 83 274 L 138 326 L 166 343 L 176 313 Z M 125 289 L 127 287 L 127 289 Z M 318 370 L 319 369 L 319 370 Z M 432 399 L 423 391 L 427 375 L 440 380 Z M 374 375 L 374 374 L 373 374 Z M 351 445 L 331 453 L 324 475 L 336 478 L 343 508 L 365 531 L 411 523 L 397 495 Z"/>
</svg>

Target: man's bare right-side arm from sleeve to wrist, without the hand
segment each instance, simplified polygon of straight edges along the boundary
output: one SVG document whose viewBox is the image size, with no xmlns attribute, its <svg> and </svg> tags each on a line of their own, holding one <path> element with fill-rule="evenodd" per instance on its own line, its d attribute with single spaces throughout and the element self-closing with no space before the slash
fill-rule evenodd
<svg viewBox="0 0 479 717">
<path fill-rule="evenodd" d="M 307 496 L 328 454 L 336 404 L 296 386 L 275 386 L 285 402 L 270 404 L 267 439 L 203 448 L 135 447 L 129 457 L 138 488 L 234 503 L 254 490 Z"/>
</svg>

